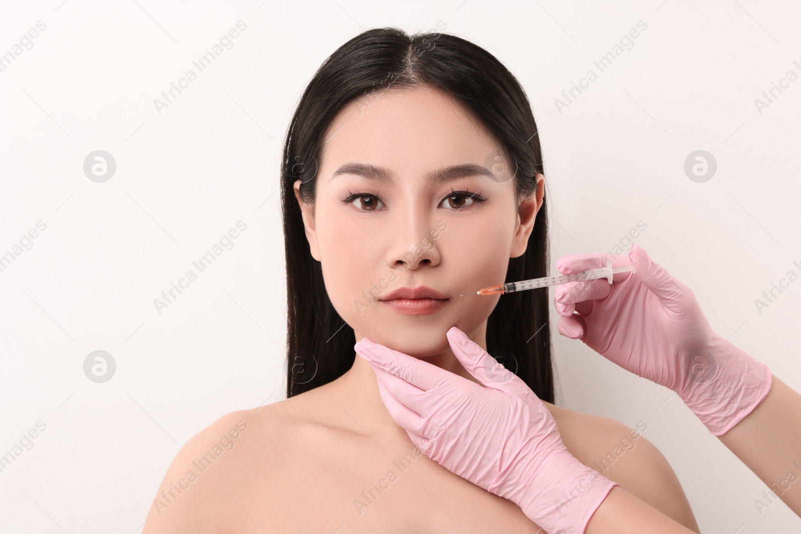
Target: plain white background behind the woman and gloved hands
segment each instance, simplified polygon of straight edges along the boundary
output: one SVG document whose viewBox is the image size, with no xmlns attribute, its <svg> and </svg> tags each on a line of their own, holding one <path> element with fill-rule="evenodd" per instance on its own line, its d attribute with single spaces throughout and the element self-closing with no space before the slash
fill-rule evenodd
<svg viewBox="0 0 801 534">
<path fill-rule="evenodd" d="M 2 2 L 0 54 L 47 26 L 0 72 L 0 255 L 46 223 L 0 272 L 0 455 L 47 426 L 0 473 L 0 530 L 136 534 L 191 436 L 284 398 L 281 142 L 320 63 L 372 27 L 445 23 L 520 79 L 541 128 L 552 266 L 611 251 L 642 220 L 636 243 L 715 331 L 801 390 L 801 281 L 755 306 L 801 274 L 801 81 L 761 114 L 754 102 L 801 74 L 798 7 L 702 3 Z M 231 50 L 159 114 L 154 99 L 240 19 Z M 634 47 L 559 113 L 554 99 L 639 20 Z M 115 158 L 106 183 L 83 173 L 95 150 Z M 706 183 L 683 170 L 696 150 L 718 164 Z M 235 246 L 159 314 L 153 300 L 240 219 Z M 645 421 L 702 532 L 799 528 L 782 503 L 757 512 L 766 485 L 680 399 L 551 319 L 557 402 Z M 115 358 L 107 383 L 83 373 L 95 350 Z"/>
</svg>

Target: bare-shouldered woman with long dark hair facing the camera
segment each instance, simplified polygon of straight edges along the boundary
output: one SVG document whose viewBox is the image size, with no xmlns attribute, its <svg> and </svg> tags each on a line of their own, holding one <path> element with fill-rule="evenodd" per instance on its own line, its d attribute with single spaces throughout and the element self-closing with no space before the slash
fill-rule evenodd
<svg viewBox="0 0 801 534">
<path fill-rule="evenodd" d="M 529 102 L 485 50 L 392 28 L 340 46 L 284 146 L 288 399 L 184 445 L 143 534 L 537 532 L 515 502 L 421 454 L 354 351 L 367 337 L 477 387 L 454 326 L 515 371 L 574 459 L 698 532 L 653 445 L 553 404 L 545 291 L 459 296 L 549 274 L 543 172 Z M 635 446 L 610 456 L 623 440 Z"/>
</svg>

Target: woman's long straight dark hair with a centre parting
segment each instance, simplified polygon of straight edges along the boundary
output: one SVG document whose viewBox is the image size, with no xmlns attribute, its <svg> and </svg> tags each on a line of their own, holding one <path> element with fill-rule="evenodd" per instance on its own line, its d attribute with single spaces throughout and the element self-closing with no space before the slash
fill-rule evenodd
<svg viewBox="0 0 801 534">
<path fill-rule="evenodd" d="M 439 27 L 439 26 L 437 26 Z M 492 54 L 455 35 L 409 36 L 397 28 L 356 35 L 331 54 L 300 98 L 284 139 L 281 202 L 287 262 L 287 398 L 343 375 L 353 364 L 356 337 L 325 291 L 312 258 L 293 191 L 302 180 L 304 202 L 315 199 L 323 136 L 336 114 L 356 98 L 388 87 L 422 83 L 464 102 L 503 148 L 517 172 L 517 200 L 543 173 L 537 125 L 517 78 Z M 543 198 L 525 254 L 509 259 L 506 282 L 548 275 L 547 206 Z M 502 295 L 487 322 L 487 351 L 515 372 L 540 399 L 553 403 L 553 367 L 547 291 Z M 535 335 L 536 333 L 536 335 Z"/>
</svg>

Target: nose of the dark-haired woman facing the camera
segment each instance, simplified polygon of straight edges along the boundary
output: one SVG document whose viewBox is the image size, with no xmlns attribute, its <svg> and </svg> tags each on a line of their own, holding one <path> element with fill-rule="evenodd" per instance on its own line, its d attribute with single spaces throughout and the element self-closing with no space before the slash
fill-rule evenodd
<svg viewBox="0 0 801 534">
<path fill-rule="evenodd" d="M 440 232 L 433 217 L 409 207 L 408 211 L 398 214 L 391 224 L 387 249 L 389 267 L 405 265 L 414 271 L 423 265 L 434 267 L 440 263 L 440 248 L 437 245 Z"/>
</svg>

